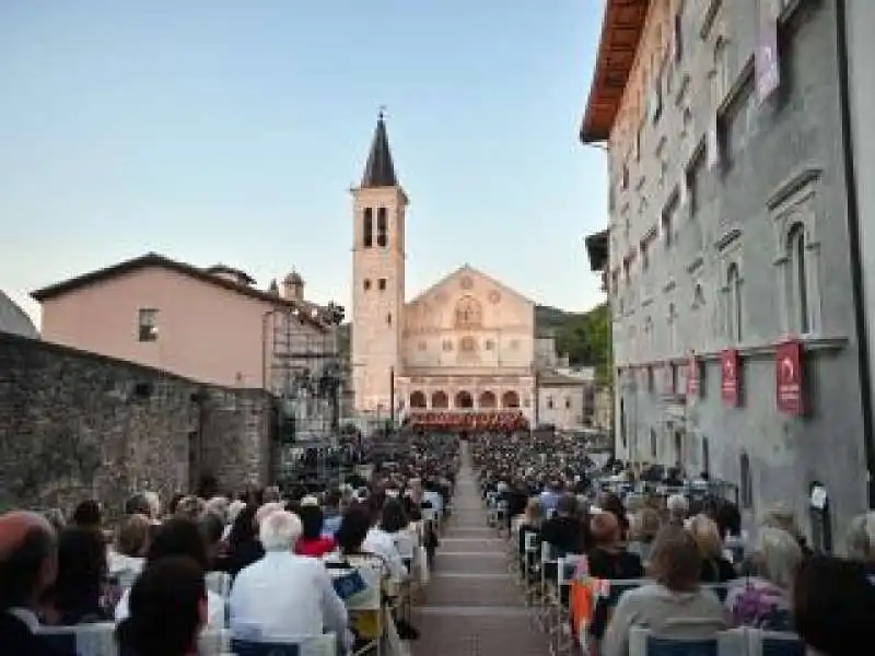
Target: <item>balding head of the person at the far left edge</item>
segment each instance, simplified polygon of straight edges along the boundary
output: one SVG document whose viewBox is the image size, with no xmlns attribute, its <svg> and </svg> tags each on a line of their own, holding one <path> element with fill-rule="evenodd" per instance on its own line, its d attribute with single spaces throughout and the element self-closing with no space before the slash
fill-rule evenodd
<svg viewBox="0 0 875 656">
<path fill-rule="evenodd" d="M 36 608 L 58 574 L 58 546 L 48 520 L 36 513 L 0 515 L 0 612 Z"/>
</svg>

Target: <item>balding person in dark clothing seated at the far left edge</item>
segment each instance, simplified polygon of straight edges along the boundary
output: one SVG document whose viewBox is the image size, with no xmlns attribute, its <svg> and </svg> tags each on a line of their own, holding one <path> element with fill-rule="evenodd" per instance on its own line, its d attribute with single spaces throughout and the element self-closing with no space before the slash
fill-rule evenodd
<svg viewBox="0 0 875 656">
<path fill-rule="evenodd" d="M 73 656 L 36 635 L 39 599 L 57 574 L 57 543 L 48 520 L 22 511 L 0 515 L 0 647 L 3 654 Z"/>
</svg>

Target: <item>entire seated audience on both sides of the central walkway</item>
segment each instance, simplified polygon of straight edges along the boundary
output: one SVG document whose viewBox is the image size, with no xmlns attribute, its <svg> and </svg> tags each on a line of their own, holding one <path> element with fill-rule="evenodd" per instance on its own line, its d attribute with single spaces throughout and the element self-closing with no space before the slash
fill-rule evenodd
<svg viewBox="0 0 875 656">
<path fill-rule="evenodd" d="M 875 644 L 875 513 L 852 523 L 838 558 L 815 553 L 784 506 L 743 526 L 707 477 L 599 466 L 575 437 L 408 431 L 392 461 L 374 459 L 366 478 L 342 485 L 144 492 L 121 513 L 84 500 L 69 516 L 0 516 L 0 653 L 69 655 L 44 640 L 48 628 L 107 625 L 121 656 L 205 654 L 203 636 L 222 632 L 255 642 L 330 634 L 338 654 L 358 654 L 373 644 L 374 618 L 351 600 L 374 586 L 386 618 L 378 633 L 390 624 L 415 641 L 402 599 L 434 564 L 460 438 L 524 585 L 533 539 L 576 559 L 581 585 L 565 601 L 587 655 L 627 656 L 639 625 L 686 626 L 687 637 L 794 632 L 820 656 Z M 611 604 L 593 585 L 618 581 L 635 583 Z"/>
</svg>

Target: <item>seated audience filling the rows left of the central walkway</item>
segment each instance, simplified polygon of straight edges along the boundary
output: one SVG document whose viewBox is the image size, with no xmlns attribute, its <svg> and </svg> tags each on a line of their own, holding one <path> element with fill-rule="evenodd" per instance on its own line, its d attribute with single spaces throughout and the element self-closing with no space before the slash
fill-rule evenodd
<svg viewBox="0 0 875 656">
<path fill-rule="evenodd" d="M 332 634 L 338 654 L 375 645 L 387 624 L 416 640 L 405 596 L 433 563 L 458 440 L 407 440 L 405 458 L 372 462 L 355 485 L 144 492 L 117 517 L 98 500 L 69 517 L 1 515 L 0 653 L 71 656 L 50 628 L 86 625 L 107 626 L 122 656 L 203 654 L 211 632 L 256 643 Z M 354 613 L 350 599 L 374 587 L 380 610 Z"/>
</svg>

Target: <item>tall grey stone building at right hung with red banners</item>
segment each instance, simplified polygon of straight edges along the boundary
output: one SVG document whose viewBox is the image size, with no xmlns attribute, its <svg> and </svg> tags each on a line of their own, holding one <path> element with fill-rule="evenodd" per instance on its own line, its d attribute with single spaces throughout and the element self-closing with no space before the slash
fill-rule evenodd
<svg viewBox="0 0 875 656">
<path fill-rule="evenodd" d="M 608 0 L 581 138 L 608 151 L 618 456 L 734 482 L 748 517 L 807 517 L 819 483 L 841 528 L 866 472 L 838 24 Z"/>
</svg>

